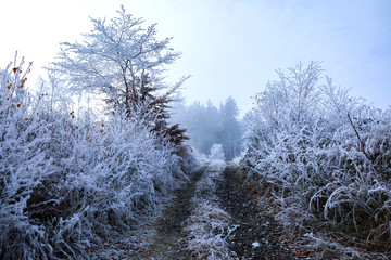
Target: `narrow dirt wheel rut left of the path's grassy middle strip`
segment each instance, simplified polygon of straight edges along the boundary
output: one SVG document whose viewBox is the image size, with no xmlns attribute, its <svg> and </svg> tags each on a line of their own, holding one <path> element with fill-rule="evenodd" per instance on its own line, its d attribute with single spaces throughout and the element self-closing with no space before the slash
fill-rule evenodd
<svg viewBox="0 0 391 260">
<path fill-rule="evenodd" d="M 180 260 L 187 259 L 179 242 L 184 221 L 190 216 L 190 200 L 194 195 L 195 184 L 205 171 L 205 167 L 190 177 L 190 182 L 174 192 L 174 198 L 162 211 L 156 221 L 156 234 L 151 245 L 144 248 L 137 259 Z"/>
</svg>

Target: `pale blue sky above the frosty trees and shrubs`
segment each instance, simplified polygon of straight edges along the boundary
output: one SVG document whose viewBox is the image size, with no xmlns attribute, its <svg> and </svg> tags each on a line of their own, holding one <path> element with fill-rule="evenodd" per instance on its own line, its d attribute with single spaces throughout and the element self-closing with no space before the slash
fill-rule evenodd
<svg viewBox="0 0 391 260">
<path fill-rule="evenodd" d="M 89 16 L 108 18 L 126 10 L 159 23 L 182 58 L 173 80 L 191 74 L 188 102 L 229 95 L 242 113 L 275 69 L 321 61 L 335 82 L 375 106 L 391 105 L 391 1 L 389 0 L 20 0 L 0 5 L 0 66 L 15 50 L 34 61 L 34 73 L 50 62 L 61 41 L 90 27 Z M 31 82 L 30 82 L 31 83 Z"/>
</svg>

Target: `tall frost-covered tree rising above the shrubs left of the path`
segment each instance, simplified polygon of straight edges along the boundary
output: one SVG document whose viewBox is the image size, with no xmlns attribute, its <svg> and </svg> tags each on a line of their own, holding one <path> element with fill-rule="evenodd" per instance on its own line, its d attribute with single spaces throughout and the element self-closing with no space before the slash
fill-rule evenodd
<svg viewBox="0 0 391 260">
<path fill-rule="evenodd" d="M 65 75 L 70 88 L 103 95 L 111 109 L 148 114 L 155 132 L 174 142 L 184 139 L 178 126 L 168 127 L 167 104 L 186 77 L 168 86 L 166 66 L 180 53 L 169 47 L 171 39 L 159 40 L 156 24 L 143 27 L 143 20 L 127 14 L 124 6 L 110 22 L 91 18 L 93 29 L 83 42 L 63 42 L 55 68 Z"/>
</svg>

